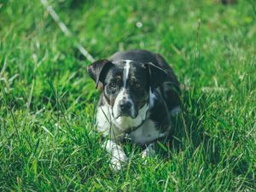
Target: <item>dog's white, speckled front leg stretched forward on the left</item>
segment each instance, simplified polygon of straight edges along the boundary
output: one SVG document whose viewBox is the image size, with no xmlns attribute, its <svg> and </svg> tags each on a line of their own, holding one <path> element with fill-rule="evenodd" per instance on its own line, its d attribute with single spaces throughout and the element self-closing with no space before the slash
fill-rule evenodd
<svg viewBox="0 0 256 192">
<path fill-rule="evenodd" d="M 117 143 L 114 143 L 111 140 L 108 140 L 105 146 L 108 153 L 111 154 L 112 156 L 111 166 L 113 170 L 119 171 L 122 168 L 122 165 L 127 160 L 124 149 L 121 146 L 119 146 Z"/>
</svg>

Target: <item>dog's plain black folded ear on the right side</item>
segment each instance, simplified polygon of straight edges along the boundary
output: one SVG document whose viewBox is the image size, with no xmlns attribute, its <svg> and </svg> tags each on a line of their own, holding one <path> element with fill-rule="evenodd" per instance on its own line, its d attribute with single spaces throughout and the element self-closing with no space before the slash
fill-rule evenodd
<svg viewBox="0 0 256 192">
<path fill-rule="evenodd" d="M 148 69 L 151 89 L 154 90 L 165 81 L 167 73 L 164 69 L 155 66 L 152 62 L 146 63 L 145 67 Z"/>
</svg>

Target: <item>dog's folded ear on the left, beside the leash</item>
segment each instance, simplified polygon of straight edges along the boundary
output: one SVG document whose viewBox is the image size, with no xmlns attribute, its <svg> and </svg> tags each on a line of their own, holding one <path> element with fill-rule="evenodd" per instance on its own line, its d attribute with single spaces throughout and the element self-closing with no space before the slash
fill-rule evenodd
<svg viewBox="0 0 256 192">
<path fill-rule="evenodd" d="M 110 67 L 113 67 L 113 63 L 106 59 L 95 61 L 87 67 L 90 78 L 96 82 L 96 88 L 103 83 Z"/>
</svg>

